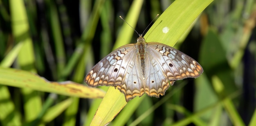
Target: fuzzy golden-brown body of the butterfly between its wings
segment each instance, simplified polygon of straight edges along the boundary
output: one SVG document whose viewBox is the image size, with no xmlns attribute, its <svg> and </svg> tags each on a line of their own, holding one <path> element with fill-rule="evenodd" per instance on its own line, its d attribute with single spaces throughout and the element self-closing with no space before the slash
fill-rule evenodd
<svg viewBox="0 0 256 126">
<path fill-rule="evenodd" d="M 139 59 L 141 61 L 141 72 L 143 75 L 143 78 L 145 78 L 145 55 L 146 55 L 146 47 L 147 43 L 145 42 L 144 37 L 142 35 L 139 35 L 137 38 L 137 53 L 139 54 Z"/>
</svg>

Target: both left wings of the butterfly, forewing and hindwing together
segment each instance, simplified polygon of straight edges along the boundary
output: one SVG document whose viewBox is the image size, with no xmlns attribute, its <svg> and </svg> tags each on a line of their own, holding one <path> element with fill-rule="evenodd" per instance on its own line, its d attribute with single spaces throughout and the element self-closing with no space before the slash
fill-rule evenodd
<svg viewBox="0 0 256 126">
<path fill-rule="evenodd" d="M 108 54 L 92 67 L 84 81 L 92 87 L 115 86 L 124 93 L 127 102 L 142 96 L 144 81 L 135 44 L 122 46 Z"/>
</svg>

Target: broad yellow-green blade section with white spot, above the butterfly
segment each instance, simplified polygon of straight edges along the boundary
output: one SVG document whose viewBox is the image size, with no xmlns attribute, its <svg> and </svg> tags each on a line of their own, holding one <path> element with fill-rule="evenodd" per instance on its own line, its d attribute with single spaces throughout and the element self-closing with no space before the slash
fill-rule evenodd
<svg viewBox="0 0 256 126">
<path fill-rule="evenodd" d="M 144 38 L 174 46 L 194 20 L 213 0 L 175 0 L 155 21 Z M 164 31 L 164 29 L 166 29 Z"/>
</svg>

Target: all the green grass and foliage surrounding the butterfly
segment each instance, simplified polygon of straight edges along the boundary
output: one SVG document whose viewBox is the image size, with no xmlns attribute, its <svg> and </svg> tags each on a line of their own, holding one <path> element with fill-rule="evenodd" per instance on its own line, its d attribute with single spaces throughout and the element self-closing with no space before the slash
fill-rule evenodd
<svg viewBox="0 0 256 126">
<path fill-rule="evenodd" d="M 254 0 L 0 0 L 0 6 L 1 126 L 256 125 Z M 158 13 L 146 41 L 196 59 L 204 68 L 199 78 L 176 81 L 161 98 L 128 103 L 113 87 L 77 84 L 111 50 L 136 42 L 119 15 L 142 33 Z"/>
</svg>

